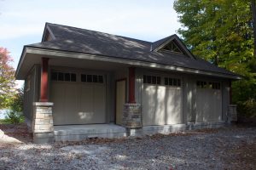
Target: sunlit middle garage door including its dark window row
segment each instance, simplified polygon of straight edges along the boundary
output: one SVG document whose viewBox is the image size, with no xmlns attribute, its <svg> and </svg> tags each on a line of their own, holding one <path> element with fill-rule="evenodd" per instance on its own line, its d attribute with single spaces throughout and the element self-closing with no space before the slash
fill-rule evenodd
<svg viewBox="0 0 256 170">
<path fill-rule="evenodd" d="M 182 123 L 181 78 L 143 76 L 143 126 Z"/>
</svg>

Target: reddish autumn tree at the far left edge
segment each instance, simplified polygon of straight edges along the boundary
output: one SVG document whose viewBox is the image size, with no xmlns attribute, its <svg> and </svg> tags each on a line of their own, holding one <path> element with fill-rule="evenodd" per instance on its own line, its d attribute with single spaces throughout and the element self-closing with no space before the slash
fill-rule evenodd
<svg viewBox="0 0 256 170">
<path fill-rule="evenodd" d="M 0 48 L 0 109 L 9 107 L 15 94 L 15 69 L 6 48 Z"/>
</svg>

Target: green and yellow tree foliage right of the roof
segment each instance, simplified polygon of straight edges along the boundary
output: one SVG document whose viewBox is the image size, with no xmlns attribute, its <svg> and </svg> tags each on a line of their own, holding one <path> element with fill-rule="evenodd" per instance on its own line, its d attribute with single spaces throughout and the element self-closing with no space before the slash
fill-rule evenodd
<svg viewBox="0 0 256 170">
<path fill-rule="evenodd" d="M 236 104 L 255 101 L 255 0 L 176 0 L 174 8 L 193 54 L 244 76 L 232 84 Z"/>
</svg>

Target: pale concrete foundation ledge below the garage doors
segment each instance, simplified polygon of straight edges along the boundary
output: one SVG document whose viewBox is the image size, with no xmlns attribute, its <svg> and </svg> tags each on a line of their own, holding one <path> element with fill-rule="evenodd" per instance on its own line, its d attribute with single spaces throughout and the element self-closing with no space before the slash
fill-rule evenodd
<svg viewBox="0 0 256 170">
<path fill-rule="evenodd" d="M 190 124 L 175 124 L 163 126 L 147 126 L 142 128 L 125 128 L 114 124 L 67 125 L 55 126 L 55 141 L 80 141 L 90 138 L 123 138 L 128 136 L 143 136 L 156 133 L 173 133 L 201 128 L 224 127 L 225 122 L 197 122 Z"/>
</svg>

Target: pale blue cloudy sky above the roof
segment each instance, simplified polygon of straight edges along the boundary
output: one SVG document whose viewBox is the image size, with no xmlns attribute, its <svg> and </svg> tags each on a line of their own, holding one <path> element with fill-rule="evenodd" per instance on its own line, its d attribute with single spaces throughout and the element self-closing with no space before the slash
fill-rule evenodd
<svg viewBox="0 0 256 170">
<path fill-rule="evenodd" d="M 154 42 L 177 33 L 174 0 L 0 0 L 0 47 L 18 65 L 23 45 L 40 42 L 45 22 Z"/>
</svg>

